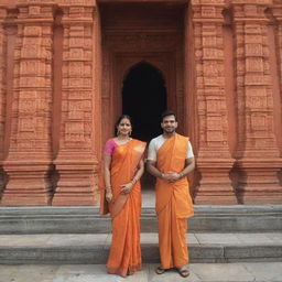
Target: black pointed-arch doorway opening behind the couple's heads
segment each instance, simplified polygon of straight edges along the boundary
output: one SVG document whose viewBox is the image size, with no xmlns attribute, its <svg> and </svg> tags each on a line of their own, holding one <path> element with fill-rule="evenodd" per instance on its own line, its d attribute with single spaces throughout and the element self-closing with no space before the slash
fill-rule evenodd
<svg viewBox="0 0 282 282">
<path fill-rule="evenodd" d="M 161 133 L 160 117 L 166 109 L 166 89 L 161 72 L 142 62 L 123 80 L 122 112 L 133 122 L 132 137 L 149 142 Z"/>
</svg>

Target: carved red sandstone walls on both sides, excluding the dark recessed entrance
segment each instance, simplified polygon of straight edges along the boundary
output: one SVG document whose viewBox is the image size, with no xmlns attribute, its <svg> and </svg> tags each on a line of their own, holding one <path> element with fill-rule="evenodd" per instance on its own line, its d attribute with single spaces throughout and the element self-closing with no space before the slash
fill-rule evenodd
<svg viewBox="0 0 282 282">
<path fill-rule="evenodd" d="M 110 83 L 99 9 L 1 3 L 0 204 L 96 204 L 108 130 L 100 85 Z M 195 203 L 282 203 L 281 1 L 192 0 L 184 28 L 181 110 L 197 156 Z"/>
</svg>

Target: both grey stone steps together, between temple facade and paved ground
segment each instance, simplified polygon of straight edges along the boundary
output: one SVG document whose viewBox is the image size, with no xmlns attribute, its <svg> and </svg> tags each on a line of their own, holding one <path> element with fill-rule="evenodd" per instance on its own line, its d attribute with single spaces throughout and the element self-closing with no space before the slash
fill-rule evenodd
<svg viewBox="0 0 282 282">
<path fill-rule="evenodd" d="M 153 207 L 142 209 L 144 263 L 159 262 Z M 0 207 L 0 264 L 104 264 L 111 224 L 97 207 Z M 195 206 L 191 262 L 282 261 L 282 205 Z"/>
</svg>

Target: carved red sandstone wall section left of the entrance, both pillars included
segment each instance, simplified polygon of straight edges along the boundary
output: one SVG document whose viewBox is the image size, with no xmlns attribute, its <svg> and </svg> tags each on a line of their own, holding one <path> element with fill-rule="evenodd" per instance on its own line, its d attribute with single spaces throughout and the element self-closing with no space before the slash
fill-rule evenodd
<svg viewBox="0 0 282 282">
<path fill-rule="evenodd" d="M 0 124 L 1 205 L 95 204 L 95 1 L 14 1 L 1 7 L 0 19 L 1 109 L 8 108 Z"/>
</svg>

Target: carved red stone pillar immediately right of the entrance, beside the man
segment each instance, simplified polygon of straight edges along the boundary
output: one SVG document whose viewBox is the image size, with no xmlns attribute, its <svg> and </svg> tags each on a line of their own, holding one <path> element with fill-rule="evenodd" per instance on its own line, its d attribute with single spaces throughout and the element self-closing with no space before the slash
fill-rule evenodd
<svg viewBox="0 0 282 282">
<path fill-rule="evenodd" d="M 200 173 L 196 204 L 237 204 L 229 171 L 234 165 L 228 148 L 225 91 L 224 0 L 193 0 L 198 158 Z"/>
</svg>

